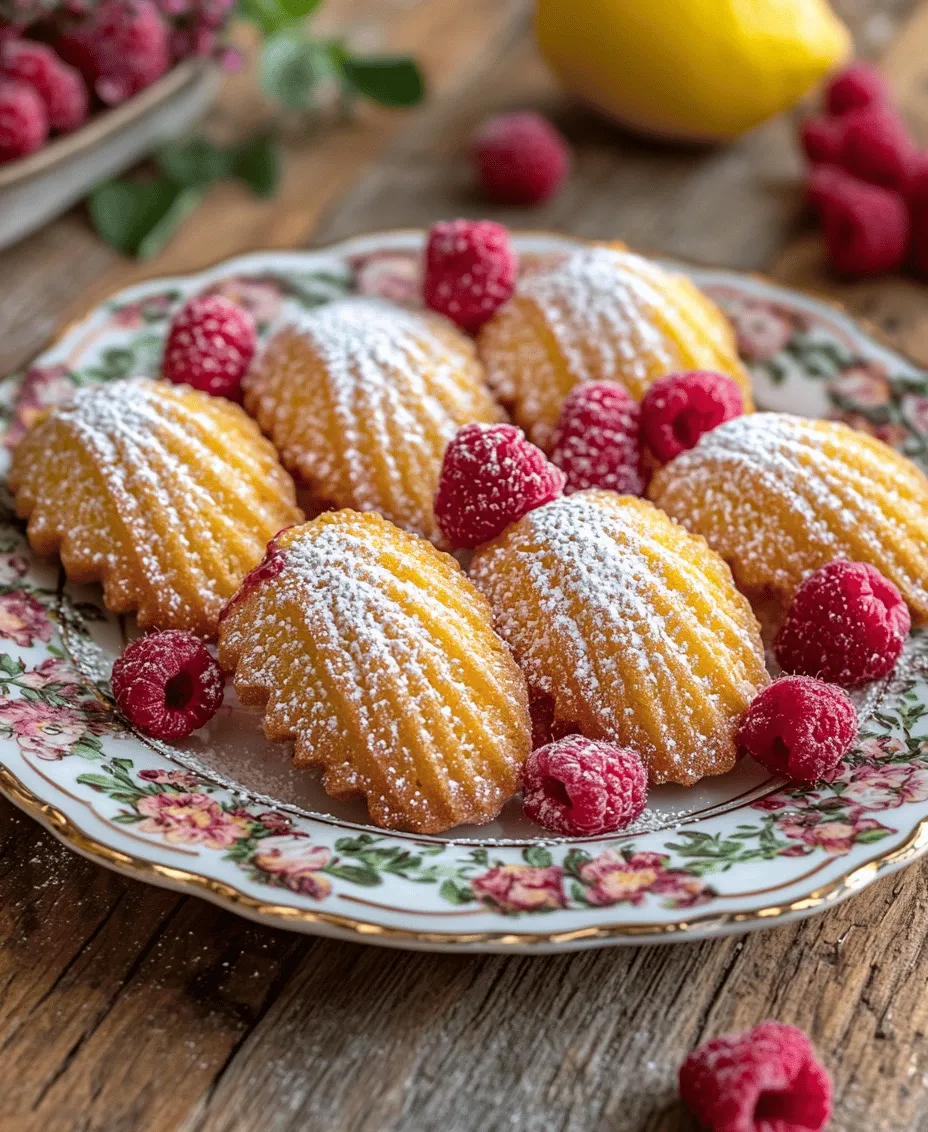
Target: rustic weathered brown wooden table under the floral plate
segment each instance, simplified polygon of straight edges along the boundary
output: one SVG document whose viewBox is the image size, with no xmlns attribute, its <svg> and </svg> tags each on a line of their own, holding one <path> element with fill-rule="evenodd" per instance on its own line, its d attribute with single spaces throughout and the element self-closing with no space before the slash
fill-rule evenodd
<svg viewBox="0 0 928 1132">
<path fill-rule="evenodd" d="M 128 264 L 75 211 L 0 256 L 0 371 L 145 274 L 261 247 L 486 214 L 464 139 L 538 106 L 576 148 L 572 183 L 523 228 L 621 237 L 837 295 L 928 365 L 928 289 L 840 286 L 804 218 L 791 119 L 719 151 L 620 135 L 557 93 L 529 0 L 345 0 L 413 51 L 429 102 L 294 135 L 276 200 L 217 188 L 161 259 Z M 928 143 L 928 6 L 841 0 Z M 370 31 L 368 31 L 370 38 Z M 672 82 L 672 76 L 665 76 Z M 259 110 L 231 80 L 214 114 Z M 813 1035 L 833 1129 L 928 1129 L 928 865 L 805 924 L 562 958 L 405 954 L 268 931 L 104 872 L 0 801 L 0 1126 L 210 1132 L 644 1132 L 691 1126 L 674 1095 L 694 1045 L 772 1017 Z"/>
</svg>

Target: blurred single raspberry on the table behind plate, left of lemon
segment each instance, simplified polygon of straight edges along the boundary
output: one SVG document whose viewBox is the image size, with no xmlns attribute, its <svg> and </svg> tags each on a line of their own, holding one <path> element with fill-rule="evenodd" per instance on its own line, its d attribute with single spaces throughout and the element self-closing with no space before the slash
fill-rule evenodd
<svg viewBox="0 0 928 1132">
<path fill-rule="evenodd" d="M 531 110 L 488 119 L 474 136 L 473 155 L 481 188 L 504 205 L 549 200 L 570 171 L 566 139 Z"/>
</svg>

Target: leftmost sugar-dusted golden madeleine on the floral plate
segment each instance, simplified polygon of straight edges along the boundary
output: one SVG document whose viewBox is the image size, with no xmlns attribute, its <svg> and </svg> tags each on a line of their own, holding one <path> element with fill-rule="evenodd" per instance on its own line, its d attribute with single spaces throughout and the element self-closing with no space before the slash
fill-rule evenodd
<svg viewBox="0 0 928 1132">
<path fill-rule="evenodd" d="M 238 405 L 145 378 L 52 409 L 18 445 L 9 486 L 35 551 L 102 582 L 108 609 L 203 636 L 268 540 L 303 518 Z"/>
</svg>

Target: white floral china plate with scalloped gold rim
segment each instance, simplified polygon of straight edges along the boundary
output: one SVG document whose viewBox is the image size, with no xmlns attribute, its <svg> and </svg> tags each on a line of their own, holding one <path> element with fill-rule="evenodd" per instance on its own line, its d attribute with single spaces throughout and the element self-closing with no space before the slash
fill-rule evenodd
<svg viewBox="0 0 928 1132">
<path fill-rule="evenodd" d="M 263 333 L 349 293 L 412 303 L 421 233 L 267 252 L 130 288 L 0 384 L 8 451 L 75 386 L 157 371 L 169 319 L 210 289 Z M 523 235 L 525 269 L 577 241 Z M 729 314 L 765 408 L 841 417 L 928 466 L 928 375 L 816 299 L 685 268 Z M 2 471 L 2 469 L 0 469 Z M 0 515 L 0 788 L 62 841 L 128 875 L 295 931 L 394 946 L 556 951 L 699 938 L 808 915 L 928 848 L 928 634 L 860 697 L 840 773 L 790 788 L 744 761 L 691 789 L 661 787 L 622 837 L 540 838 L 512 805 L 446 837 L 389 833 L 328 799 L 226 704 L 183 745 L 140 738 L 108 700 L 131 626 L 65 583 Z"/>
</svg>

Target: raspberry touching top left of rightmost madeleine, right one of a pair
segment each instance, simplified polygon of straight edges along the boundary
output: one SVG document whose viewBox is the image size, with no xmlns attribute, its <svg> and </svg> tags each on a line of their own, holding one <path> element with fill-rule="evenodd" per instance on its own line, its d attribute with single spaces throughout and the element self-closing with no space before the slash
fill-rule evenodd
<svg viewBox="0 0 928 1132">
<path fill-rule="evenodd" d="M 711 370 L 659 378 L 642 401 L 642 436 L 661 463 L 693 448 L 704 432 L 745 411 L 737 381 Z"/>
</svg>

